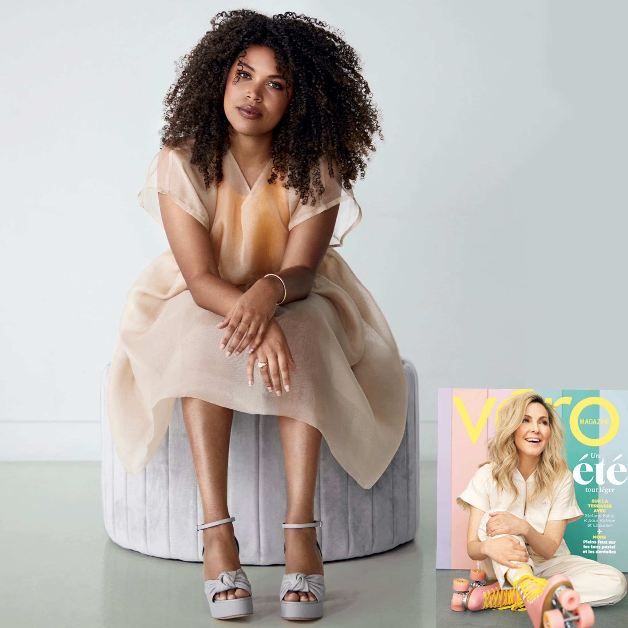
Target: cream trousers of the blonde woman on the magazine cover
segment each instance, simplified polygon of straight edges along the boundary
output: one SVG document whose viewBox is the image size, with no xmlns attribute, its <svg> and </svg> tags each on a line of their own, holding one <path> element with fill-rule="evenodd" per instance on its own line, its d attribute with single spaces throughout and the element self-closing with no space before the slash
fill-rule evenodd
<svg viewBox="0 0 628 628">
<path fill-rule="evenodd" d="M 489 512 L 499 512 L 503 509 L 496 508 Z M 485 541 L 486 523 L 489 520 L 489 512 L 485 512 L 477 536 L 480 541 Z M 497 539 L 506 534 L 498 534 L 490 538 Z M 526 541 L 522 536 L 511 534 L 522 546 L 526 546 Z M 528 557 L 528 565 L 532 567 L 535 576 L 539 578 L 551 578 L 557 573 L 564 573 L 571 580 L 573 589 L 580 594 L 580 601 L 587 602 L 592 606 L 605 606 L 615 604 L 626 594 L 626 578 L 624 574 L 610 565 L 598 563 L 584 556 L 574 556 L 566 554 L 555 556 L 548 560 L 534 562 L 531 556 Z M 506 580 L 506 571 L 509 567 L 501 565 L 494 560 L 487 558 L 478 561 L 478 568 L 486 572 L 487 578 L 494 578 L 502 588 L 512 588 L 511 583 Z"/>
</svg>

